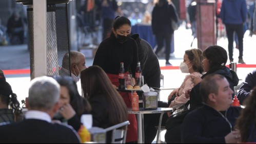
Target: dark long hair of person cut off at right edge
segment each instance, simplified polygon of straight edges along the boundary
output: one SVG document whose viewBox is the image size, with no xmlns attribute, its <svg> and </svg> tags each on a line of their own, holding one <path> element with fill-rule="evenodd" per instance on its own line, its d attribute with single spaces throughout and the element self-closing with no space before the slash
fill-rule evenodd
<svg viewBox="0 0 256 144">
<path fill-rule="evenodd" d="M 240 130 L 241 142 L 253 142 L 256 138 L 256 87 L 245 100 L 245 105 L 235 123 L 235 128 Z"/>
</svg>

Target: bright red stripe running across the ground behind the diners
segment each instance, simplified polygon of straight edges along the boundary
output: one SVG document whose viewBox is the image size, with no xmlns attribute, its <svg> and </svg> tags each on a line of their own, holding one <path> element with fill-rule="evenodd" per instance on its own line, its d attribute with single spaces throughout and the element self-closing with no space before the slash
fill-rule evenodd
<svg viewBox="0 0 256 144">
<path fill-rule="evenodd" d="M 229 67 L 229 65 L 226 65 Z M 256 64 L 237 64 L 237 68 L 256 68 Z M 179 66 L 161 66 L 161 70 L 180 69 Z M 30 74 L 30 69 L 3 70 L 5 75 Z"/>
</svg>

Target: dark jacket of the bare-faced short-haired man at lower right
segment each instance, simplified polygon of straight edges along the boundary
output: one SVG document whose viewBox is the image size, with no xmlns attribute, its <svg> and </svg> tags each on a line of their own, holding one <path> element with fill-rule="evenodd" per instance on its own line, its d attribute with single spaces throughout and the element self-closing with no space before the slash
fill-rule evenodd
<svg viewBox="0 0 256 144">
<path fill-rule="evenodd" d="M 233 130 L 229 123 L 233 128 L 241 109 L 229 107 L 218 112 L 204 105 L 190 112 L 182 124 L 182 143 L 225 143 L 225 136 Z"/>
</svg>

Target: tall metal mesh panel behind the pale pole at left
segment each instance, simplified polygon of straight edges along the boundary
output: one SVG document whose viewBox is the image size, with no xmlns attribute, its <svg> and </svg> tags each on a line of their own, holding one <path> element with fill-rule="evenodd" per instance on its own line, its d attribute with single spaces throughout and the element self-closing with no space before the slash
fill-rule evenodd
<svg viewBox="0 0 256 144">
<path fill-rule="evenodd" d="M 29 25 L 29 49 L 31 80 L 34 78 L 33 9 L 27 10 Z M 66 7 L 47 7 L 47 76 L 70 76 L 69 58 L 64 61 L 67 70 L 60 70 L 63 57 L 69 52 Z"/>
</svg>

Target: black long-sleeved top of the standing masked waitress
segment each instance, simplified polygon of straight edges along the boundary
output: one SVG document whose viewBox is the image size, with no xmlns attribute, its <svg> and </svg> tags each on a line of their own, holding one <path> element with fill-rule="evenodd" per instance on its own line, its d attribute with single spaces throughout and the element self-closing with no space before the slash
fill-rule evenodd
<svg viewBox="0 0 256 144">
<path fill-rule="evenodd" d="M 132 75 L 135 76 L 138 62 L 137 44 L 132 38 L 120 43 L 111 35 L 99 45 L 92 65 L 100 66 L 107 74 L 118 75 L 120 62 L 124 62 L 125 71 L 130 67 Z"/>
</svg>

